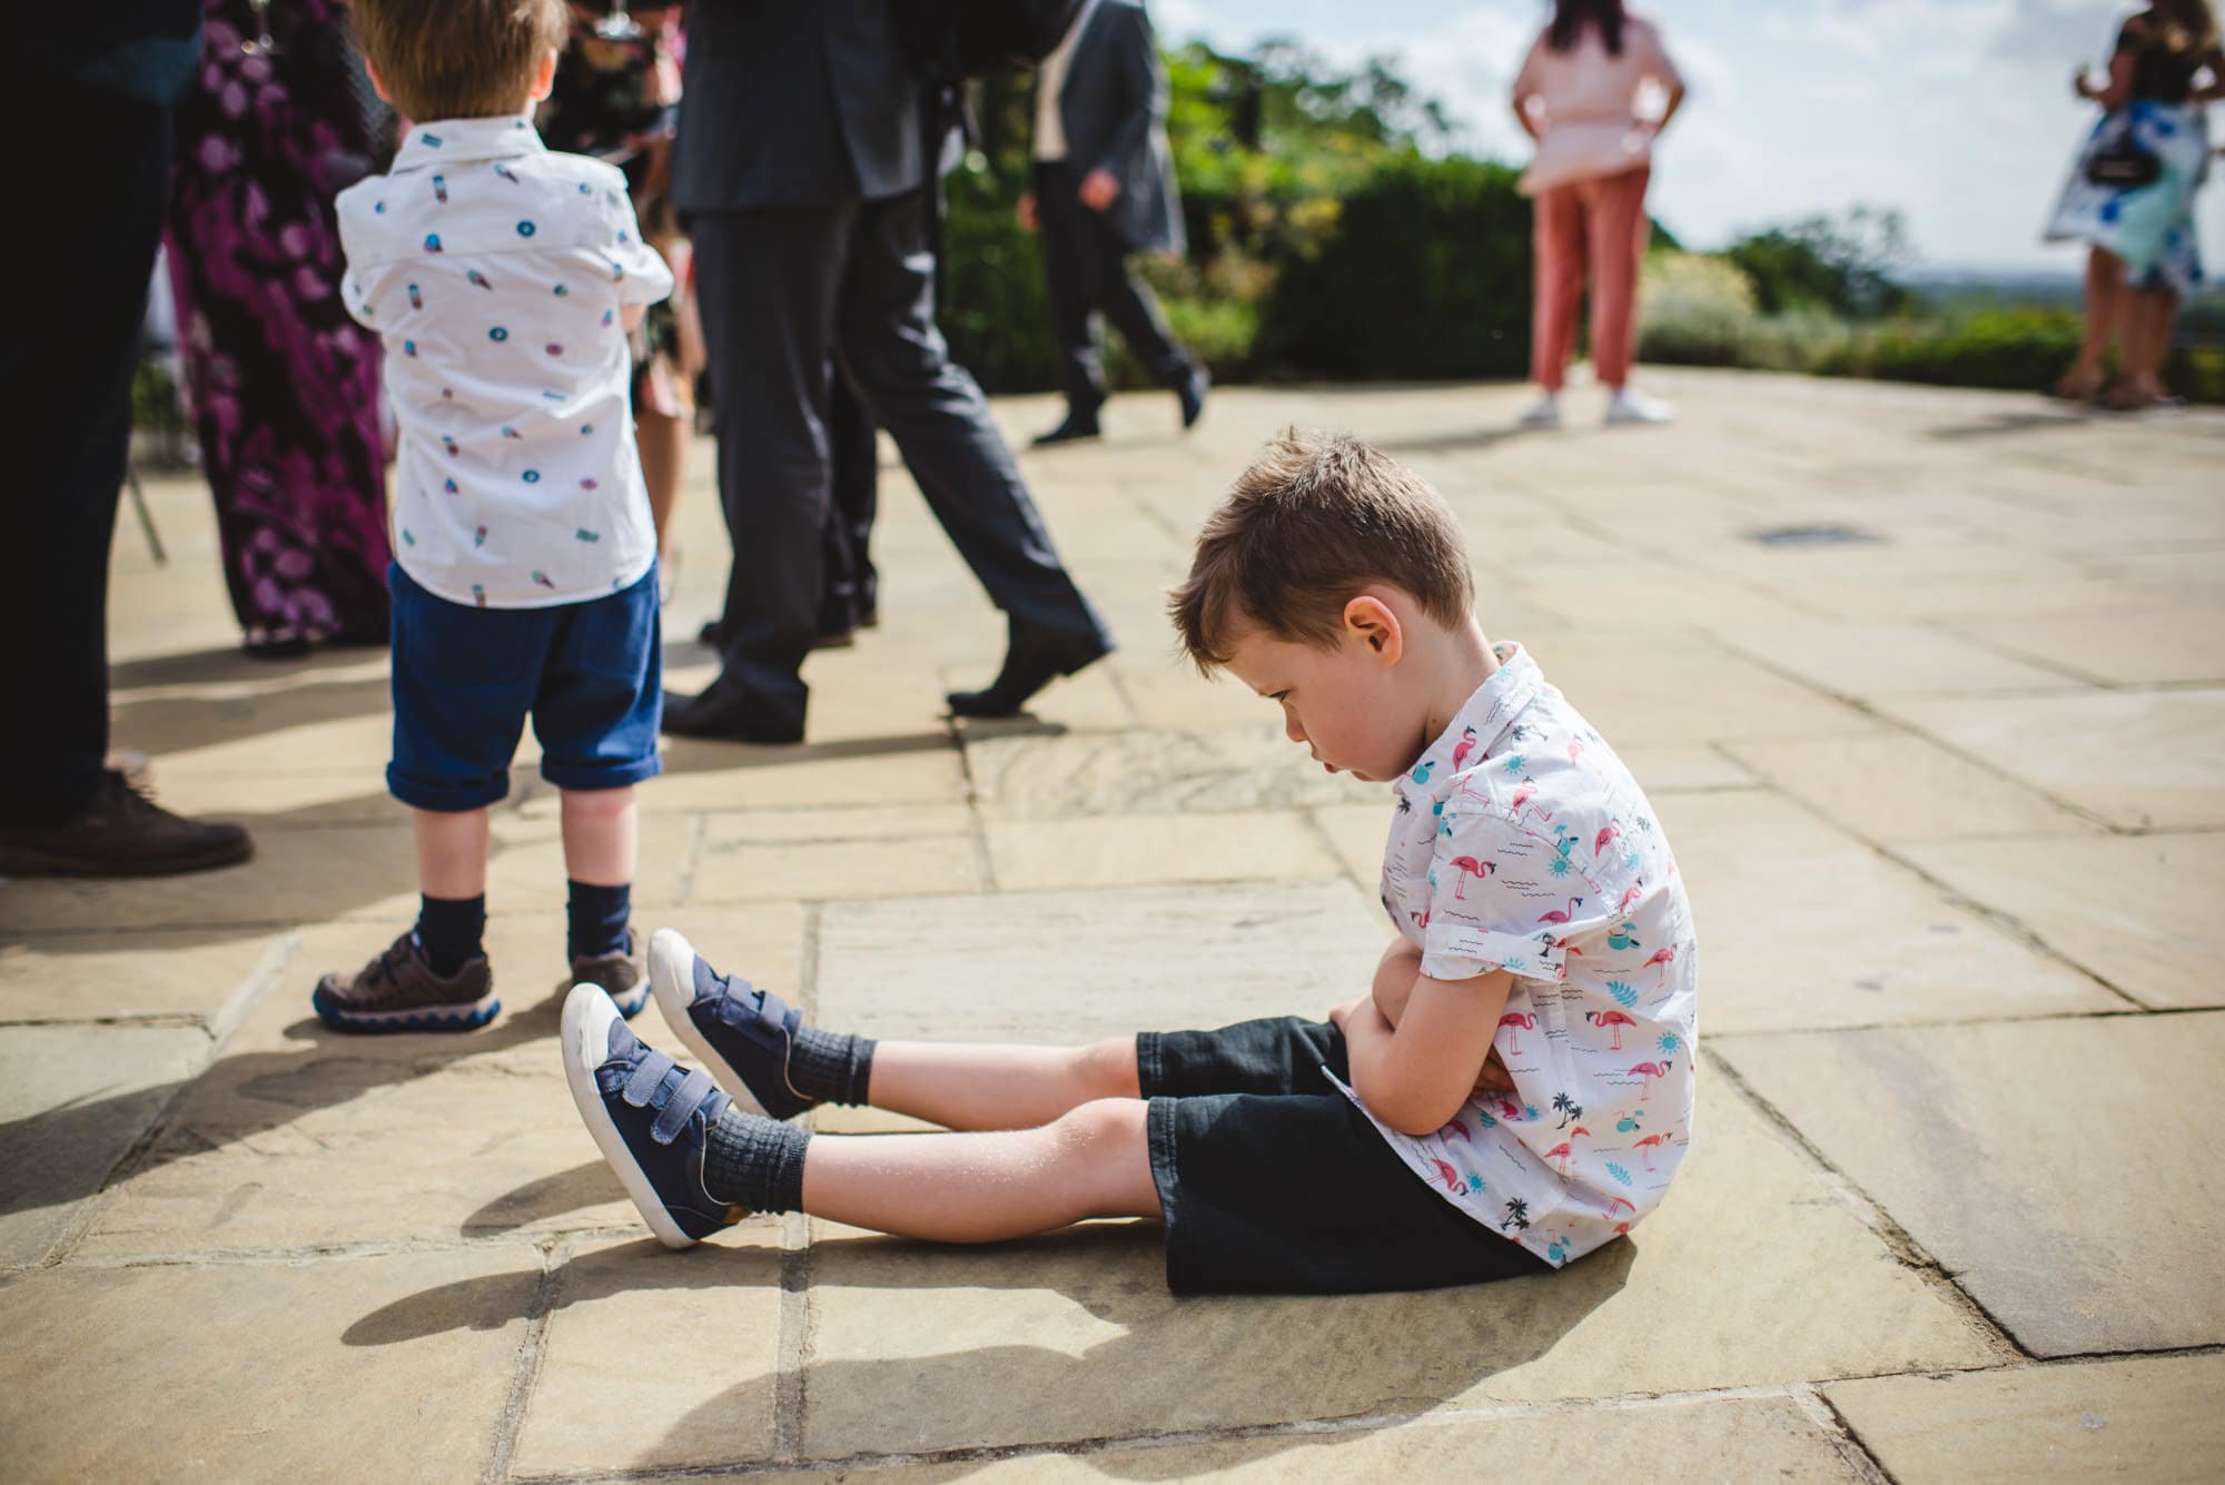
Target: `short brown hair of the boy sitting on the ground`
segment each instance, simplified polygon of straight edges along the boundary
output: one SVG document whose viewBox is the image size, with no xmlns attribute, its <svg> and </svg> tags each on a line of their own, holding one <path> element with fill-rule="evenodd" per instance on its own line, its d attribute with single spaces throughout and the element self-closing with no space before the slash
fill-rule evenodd
<svg viewBox="0 0 2225 1485">
<path fill-rule="evenodd" d="M 1237 631 L 1335 645 L 1368 582 L 1413 594 L 1444 627 L 1475 605 L 1460 520 L 1428 480 L 1351 433 L 1284 429 L 1206 516 L 1188 580 L 1168 596 L 1202 671 Z"/>
</svg>

